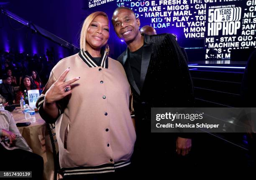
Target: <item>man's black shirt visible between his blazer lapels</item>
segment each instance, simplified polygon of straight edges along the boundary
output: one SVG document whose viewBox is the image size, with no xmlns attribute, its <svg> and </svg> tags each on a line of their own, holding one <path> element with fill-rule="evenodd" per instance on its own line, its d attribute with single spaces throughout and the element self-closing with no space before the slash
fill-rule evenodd
<svg viewBox="0 0 256 180">
<path fill-rule="evenodd" d="M 130 55 L 130 65 L 131 71 L 133 73 L 133 78 L 138 86 L 138 89 L 141 90 L 141 60 L 142 60 L 143 46 L 134 52 L 129 52 Z"/>
</svg>

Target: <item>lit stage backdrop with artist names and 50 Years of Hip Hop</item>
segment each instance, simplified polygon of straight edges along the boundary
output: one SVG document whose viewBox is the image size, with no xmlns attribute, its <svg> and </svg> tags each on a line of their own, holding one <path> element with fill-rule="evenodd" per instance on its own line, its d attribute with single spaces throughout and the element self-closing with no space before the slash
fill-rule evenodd
<svg viewBox="0 0 256 180">
<path fill-rule="evenodd" d="M 141 27 L 174 33 L 181 46 L 203 49 L 205 59 L 216 51 L 218 59 L 229 59 L 233 49 L 256 47 L 256 0 L 88 0 L 84 9 L 111 18 L 119 6 L 133 9 Z"/>
</svg>

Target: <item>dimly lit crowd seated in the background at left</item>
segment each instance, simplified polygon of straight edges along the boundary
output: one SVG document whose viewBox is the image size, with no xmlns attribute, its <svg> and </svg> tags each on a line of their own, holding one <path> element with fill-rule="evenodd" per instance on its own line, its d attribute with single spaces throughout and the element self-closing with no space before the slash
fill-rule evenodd
<svg viewBox="0 0 256 180">
<path fill-rule="evenodd" d="M 33 56 L 0 50 L 0 104 L 19 103 L 24 90 L 43 89 L 55 64 L 53 50 Z"/>
</svg>

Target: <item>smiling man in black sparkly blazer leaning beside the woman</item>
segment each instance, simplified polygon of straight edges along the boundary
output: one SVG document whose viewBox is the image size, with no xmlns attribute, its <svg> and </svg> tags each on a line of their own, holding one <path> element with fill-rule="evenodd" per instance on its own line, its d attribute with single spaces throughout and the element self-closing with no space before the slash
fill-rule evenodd
<svg viewBox="0 0 256 180">
<path fill-rule="evenodd" d="M 112 23 L 118 37 L 128 46 L 118 61 L 124 66 L 133 92 L 136 164 L 143 167 L 153 163 L 153 169 L 158 164 L 161 168 L 157 170 L 163 170 L 175 150 L 183 156 L 189 153 L 191 139 L 185 133 L 179 137 L 173 133 L 151 133 L 151 107 L 193 106 L 187 62 L 172 34 L 141 35 L 140 21 L 128 7 L 118 7 Z"/>
</svg>

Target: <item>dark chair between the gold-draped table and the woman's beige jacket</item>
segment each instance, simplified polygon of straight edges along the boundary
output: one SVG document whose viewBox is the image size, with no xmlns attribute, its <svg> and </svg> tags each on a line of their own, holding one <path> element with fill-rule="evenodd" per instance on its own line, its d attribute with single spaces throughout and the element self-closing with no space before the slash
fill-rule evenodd
<svg viewBox="0 0 256 180">
<path fill-rule="evenodd" d="M 54 180 L 57 180 L 57 175 L 58 173 L 61 174 L 61 171 L 60 171 L 60 165 L 59 165 L 59 152 L 57 152 L 56 145 L 55 145 L 55 143 L 57 143 L 56 133 L 55 133 L 55 124 L 46 123 L 46 128 L 50 135 L 51 147 L 52 147 L 53 158 L 54 158 Z"/>
</svg>

